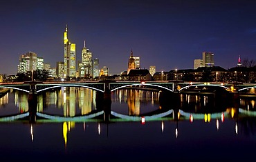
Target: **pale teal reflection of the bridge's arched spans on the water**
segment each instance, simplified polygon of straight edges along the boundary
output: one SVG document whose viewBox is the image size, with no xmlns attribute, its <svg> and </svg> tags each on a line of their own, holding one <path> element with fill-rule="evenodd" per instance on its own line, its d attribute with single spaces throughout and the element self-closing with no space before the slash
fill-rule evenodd
<svg viewBox="0 0 256 162">
<path fill-rule="evenodd" d="M 164 121 L 164 120 L 175 120 L 175 111 L 174 110 L 168 110 L 167 112 L 162 112 L 159 114 L 153 114 L 150 116 L 129 116 L 125 114 L 118 114 L 117 112 L 111 111 L 111 115 L 113 118 L 110 121 Z M 210 114 L 205 113 L 192 113 L 192 112 L 183 112 L 183 110 L 178 110 L 177 115 L 179 116 L 179 119 L 183 120 L 203 120 L 205 119 L 206 115 L 210 119 L 223 119 L 224 117 L 228 117 L 228 112 L 214 112 Z M 250 110 L 244 110 L 239 108 L 239 114 L 248 116 L 248 117 L 256 117 L 256 112 L 250 111 Z M 104 114 L 104 111 L 95 112 L 93 114 L 87 114 L 87 115 L 81 115 L 77 117 L 60 117 L 57 115 L 51 115 L 51 114 L 44 114 L 41 112 L 37 112 L 37 117 L 39 118 L 38 121 L 41 122 L 64 122 L 64 121 L 74 121 L 74 122 L 84 122 L 84 121 L 90 121 L 90 122 L 99 122 L 102 121 L 102 119 L 98 118 L 100 115 Z M 26 118 L 29 117 L 29 112 L 24 112 L 21 114 L 15 114 L 10 115 L 8 117 L 0 117 L 0 122 L 11 122 L 11 121 L 19 121 L 19 120 L 26 120 Z M 209 120 L 209 119 L 208 119 Z"/>
</svg>

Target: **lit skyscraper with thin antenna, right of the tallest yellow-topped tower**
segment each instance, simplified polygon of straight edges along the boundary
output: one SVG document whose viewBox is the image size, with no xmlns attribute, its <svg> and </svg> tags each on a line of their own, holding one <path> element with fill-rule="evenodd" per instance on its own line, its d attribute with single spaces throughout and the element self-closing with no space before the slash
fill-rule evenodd
<svg viewBox="0 0 256 162">
<path fill-rule="evenodd" d="M 86 48 L 84 41 L 84 48 L 82 48 L 82 66 L 84 66 L 84 76 L 86 78 L 93 77 L 93 54 L 92 52 Z"/>
</svg>

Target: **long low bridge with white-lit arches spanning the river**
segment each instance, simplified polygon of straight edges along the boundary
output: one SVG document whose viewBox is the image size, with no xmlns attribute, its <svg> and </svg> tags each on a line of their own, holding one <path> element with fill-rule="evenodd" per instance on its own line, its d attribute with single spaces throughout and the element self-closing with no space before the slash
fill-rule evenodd
<svg viewBox="0 0 256 162">
<path fill-rule="evenodd" d="M 34 87 L 33 87 L 34 86 Z M 256 84 L 243 84 L 243 83 L 202 83 L 202 82 L 179 82 L 179 81 L 54 81 L 54 82 L 15 82 L 15 83 L 0 83 L 0 88 L 12 88 L 15 90 L 22 90 L 30 92 L 35 88 L 36 92 L 42 92 L 49 89 L 60 87 L 82 87 L 96 90 L 99 92 L 111 92 L 120 88 L 127 88 L 136 86 L 137 88 L 154 88 L 158 90 L 183 91 L 190 88 L 198 87 L 216 87 L 223 88 L 228 91 L 236 90 L 237 92 L 246 91 L 250 88 L 256 88 Z"/>
</svg>

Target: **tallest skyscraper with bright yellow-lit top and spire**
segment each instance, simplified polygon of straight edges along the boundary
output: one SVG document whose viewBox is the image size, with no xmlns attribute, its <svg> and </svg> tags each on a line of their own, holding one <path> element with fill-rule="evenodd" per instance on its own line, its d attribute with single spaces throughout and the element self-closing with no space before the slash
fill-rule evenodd
<svg viewBox="0 0 256 162">
<path fill-rule="evenodd" d="M 68 40 L 68 26 L 64 31 L 64 76 L 63 77 L 75 77 L 76 69 L 76 53 L 75 43 L 71 43 Z"/>
</svg>

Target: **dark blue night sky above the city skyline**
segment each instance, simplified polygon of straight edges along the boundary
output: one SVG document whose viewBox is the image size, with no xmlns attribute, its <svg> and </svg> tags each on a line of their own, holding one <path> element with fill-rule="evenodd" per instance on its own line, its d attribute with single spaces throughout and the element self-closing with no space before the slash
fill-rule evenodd
<svg viewBox="0 0 256 162">
<path fill-rule="evenodd" d="M 256 1 L 226 0 L 0 0 L 0 74 L 16 74 L 28 51 L 55 67 L 63 61 L 63 32 L 77 45 L 86 40 L 93 59 L 110 74 L 127 70 L 131 49 L 141 68 L 193 68 L 202 52 L 232 68 L 256 59 Z"/>
</svg>

